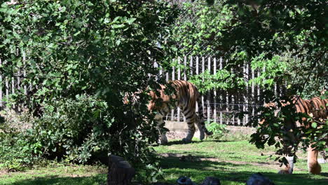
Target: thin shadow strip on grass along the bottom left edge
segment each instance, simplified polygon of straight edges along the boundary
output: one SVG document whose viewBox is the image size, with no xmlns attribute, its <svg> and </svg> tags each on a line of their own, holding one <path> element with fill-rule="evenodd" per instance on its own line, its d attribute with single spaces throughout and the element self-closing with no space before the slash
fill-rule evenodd
<svg viewBox="0 0 328 185">
<path fill-rule="evenodd" d="M 51 184 L 69 184 L 69 185 L 93 185 L 106 184 L 106 175 L 98 174 L 93 177 L 58 177 L 50 175 L 48 177 L 36 177 L 35 179 L 22 179 L 9 183 L 11 185 L 51 185 Z M 8 185 L 9 185 L 8 184 Z"/>
</svg>

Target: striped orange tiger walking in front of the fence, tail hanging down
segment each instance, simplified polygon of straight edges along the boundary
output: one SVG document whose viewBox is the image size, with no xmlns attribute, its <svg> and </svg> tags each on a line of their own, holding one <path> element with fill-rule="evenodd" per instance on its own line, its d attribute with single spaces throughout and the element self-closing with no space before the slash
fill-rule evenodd
<svg viewBox="0 0 328 185">
<path fill-rule="evenodd" d="M 200 132 L 200 140 L 203 140 L 206 135 L 212 135 L 205 127 L 205 121 L 203 116 L 203 107 L 200 100 L 200 93 L 193 83 L 188 81 L 169 81 L 169 85 L 175 88 L 176 93 L 173 95 L 165 95 L 165 86 L 160 85 L 158 90 L 159 97 L 154 91 L 151 91 L 149 95 L 151 100 L 148 104 L 149 111 L 156 111 L 154 120 L 157 122 L 157 128 L 164 124 L 163 117 L 168 114 L 170 109 L 179 107 L 182 113 L 186 117 L 186 123 L 188 124 L 188 133 L 186 138 L 182 139 L 183 142 L 191 142 L 195 133 L 195 123 L 198 126 Z M 158 100 L 161 100 L 158 104 Z M 196 102 L 198 104 L 198 115 L 196 114 Z M 165 132 L 160 132 L 160 144 L 168 143 L 168 139 Z"/>
</svg>

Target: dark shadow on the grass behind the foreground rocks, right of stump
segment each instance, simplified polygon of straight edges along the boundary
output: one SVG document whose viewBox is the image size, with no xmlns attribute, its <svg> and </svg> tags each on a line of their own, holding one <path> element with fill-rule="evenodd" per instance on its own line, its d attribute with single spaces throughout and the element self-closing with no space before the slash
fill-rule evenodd
<svg viewBox="0 0 328 185">
<path fill-rule="evenodd" d="M 194 156 L 199 158 L 199 156 Z M 264 163 L 265 164 L 265 163 Z M 274 169 L 266 169 L 265 167 L 257 167 L 245 163 L 229 163 L 222 161 L 202 160 L 202 161 L 185 161 L 179 160 L 179 157 L 170 156 L 160 161 L 163 172 L 167 181 L 166 183 L 175 183 L 177 177 L 191 177 L 196 183 L 200 183 L 205 177 L 212 176 L 221 179 L 222 184 L 245 184 L 247 179 L 254 173 L 261 172 L 264 176 L 273 180 L 276 185 L 288 184 L 328 184 L 327 173 L 320 175 L 308 174 L 278 174 Z M 258 169 L 258 170 L 254 170 Z M 171 179 L 170 179 L 171 178 Z"/>
</svg>

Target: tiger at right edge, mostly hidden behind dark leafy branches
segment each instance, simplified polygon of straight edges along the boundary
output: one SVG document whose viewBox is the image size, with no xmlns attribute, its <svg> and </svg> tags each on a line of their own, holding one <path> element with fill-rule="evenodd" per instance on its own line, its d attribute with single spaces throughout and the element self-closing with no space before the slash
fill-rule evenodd
<svg viewBox="0 0 328 185">
<path fill-rule="evenodd" d="M 297 113 L 305 113 L 309 116 L 313 117 L 314 119 L 327 119 L 327 106 L 325 102 L 328 102 L 328 100 L 322 100 L 320 97 L 313 97 L 311 100 L 303 100 L 301 97 L 294 97 L 293 104 L 296 109 Z M 284 106 L 284 104 L 282 104 Z M 306 120 L 306 118 L 302 118 L 303 121 Z M 290 127 L 301 126 L 298 122 L 287 124 Z M 287 126 L 288 127 L 288 126 Z M 315 150 L 310 144 L 308 146 L 307 152 L 308 152 L 308 172 L 311 174 L 320 174 L 321 172 L 321 166 L 317 161 L 317 156 L 319 151 Z M 284 170 L 280 170 L 279 174 L 292 174 L 293 168 L 294 168 L 294 156 L 287 156 L 287 162 Z"/>
</svg>

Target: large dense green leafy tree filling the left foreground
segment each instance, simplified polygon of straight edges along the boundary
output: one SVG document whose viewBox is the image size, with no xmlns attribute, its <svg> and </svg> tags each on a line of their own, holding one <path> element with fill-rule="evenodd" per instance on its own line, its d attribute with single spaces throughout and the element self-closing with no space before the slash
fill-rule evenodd
<svg viewBox="0 0 328 185">
<path fill-rule="evenodd" d="M 84 163 L 108 151 L 136 165 L 153 161 L 148 96 L 134 106 L 123 98 L 158 87 L 153 62 L 165 67 L 176 15 L 151 0 L 1 1 L 1 73 L 31 87 L 13 98 L 36 117 L 45 156 Z"/>
</svg>

